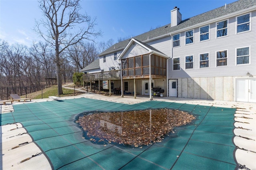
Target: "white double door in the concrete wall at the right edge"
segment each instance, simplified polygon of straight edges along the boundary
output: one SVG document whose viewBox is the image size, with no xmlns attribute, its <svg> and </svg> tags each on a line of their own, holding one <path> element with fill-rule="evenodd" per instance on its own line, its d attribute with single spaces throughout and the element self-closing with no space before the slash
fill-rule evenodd
<svg viewBox="0 0 256 170">
<path fill-rule="evenodd" d="M 256 78 L 236 79 L 236 101 L 256 103 Z"/>
</svg>

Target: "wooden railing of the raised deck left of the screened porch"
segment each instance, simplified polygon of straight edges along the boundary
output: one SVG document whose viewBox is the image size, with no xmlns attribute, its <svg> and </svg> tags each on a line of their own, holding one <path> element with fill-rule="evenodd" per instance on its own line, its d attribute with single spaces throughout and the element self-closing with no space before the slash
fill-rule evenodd
<svg viewBox="0 0 256 170">
<path fill-rule="evenodd" d="M 120 70 L 103 71 L 99 73 L 89 73 L 83 75 L 84 81 L 100 81 L 100 80 L 120 80 Z"/>
</svg>

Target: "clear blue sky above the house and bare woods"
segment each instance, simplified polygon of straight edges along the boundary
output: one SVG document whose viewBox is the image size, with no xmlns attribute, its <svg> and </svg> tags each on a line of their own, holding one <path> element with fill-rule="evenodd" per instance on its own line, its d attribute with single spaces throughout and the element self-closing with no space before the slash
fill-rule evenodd
<svg viewBox="0 0 256 170">
<path fill-rule="evenodd" d="M 170 11 L 180 8 L 182 20 L 236 0 L 81 0 L 82 11 L 96 17 L 97 42 L 127 38 L 170 24 Z M 32 30 L 42 18 L 37 0 L 0 0 L 0 39 L 10 44 L 32 45 L 41 40 Z"/>
</svg>

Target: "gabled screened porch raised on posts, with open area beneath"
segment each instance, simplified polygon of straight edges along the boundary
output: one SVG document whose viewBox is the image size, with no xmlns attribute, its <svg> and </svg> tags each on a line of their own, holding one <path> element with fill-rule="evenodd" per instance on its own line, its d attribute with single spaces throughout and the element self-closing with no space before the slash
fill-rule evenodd
<svg viewBox="0 0 256 170">
<path fill-rule="evenodd" d="M 121 92 L 124 94 L 166 96 L 168 56 L 134 38 L 130 40 L 121 59 Z"/>
</svg>

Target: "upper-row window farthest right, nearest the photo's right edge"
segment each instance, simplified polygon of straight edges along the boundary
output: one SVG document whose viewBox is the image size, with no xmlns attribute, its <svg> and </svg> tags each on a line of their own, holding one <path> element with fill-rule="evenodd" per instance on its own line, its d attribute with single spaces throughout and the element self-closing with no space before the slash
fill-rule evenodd
<svg viewBox="0 0 256 170">
<path fill-rule="evenodd" d="M 250 31 L 250 14 L 236 17 L 236 32 Z"/>
</svg>

